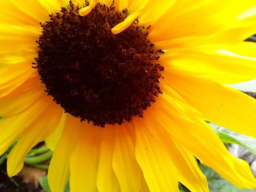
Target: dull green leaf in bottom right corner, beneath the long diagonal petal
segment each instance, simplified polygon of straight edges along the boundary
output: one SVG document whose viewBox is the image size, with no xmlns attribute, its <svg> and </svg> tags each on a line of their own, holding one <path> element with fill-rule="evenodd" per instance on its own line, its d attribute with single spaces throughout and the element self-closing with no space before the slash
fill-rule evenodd
<svg viewBox="0 0 256 192">
<path fill-rule="evenodd" d="M 200 168 L 208 181 L 210 192 L 255 192 L 255 189 L 241 189 L 230 183 L 228 180 L 223 179 L 213 169 L 200 164 Z"/>
</svg>

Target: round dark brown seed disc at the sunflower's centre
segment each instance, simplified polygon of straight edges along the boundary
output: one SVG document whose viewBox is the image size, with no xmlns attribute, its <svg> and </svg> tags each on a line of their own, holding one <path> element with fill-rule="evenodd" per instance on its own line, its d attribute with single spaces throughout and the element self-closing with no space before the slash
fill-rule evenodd
<svg viewBox="0 0 256 192">
<path fill-rule="evenodd" d="M 86 2 L 87 6 L 89 5 Z M 148 27 L 134 22 L 119 34 L 111 29 L 128 17 L 96 4 L 86 16 L 71 1 L 50 20 L 40 23 L 36 68 L 45 92 L 72 116 L 96 126 L 123 124 L 143 111 L 162 93 L 161 50 L 147 39 Z"/>
</svg>

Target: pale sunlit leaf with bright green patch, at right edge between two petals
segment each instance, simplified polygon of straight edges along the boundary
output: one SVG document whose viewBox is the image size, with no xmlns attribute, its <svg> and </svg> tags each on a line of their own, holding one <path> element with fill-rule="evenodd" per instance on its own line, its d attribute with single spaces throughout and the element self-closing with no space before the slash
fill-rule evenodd
<svg viewBox="0 0 256 192">
<path fill-rule="evenodd" d="M 242 135 L 212 123 L 209 123 L 223 143 L 234 143 L 247 148 L 251 153 L 256 155 L 256 139 Z"/>
</svg>

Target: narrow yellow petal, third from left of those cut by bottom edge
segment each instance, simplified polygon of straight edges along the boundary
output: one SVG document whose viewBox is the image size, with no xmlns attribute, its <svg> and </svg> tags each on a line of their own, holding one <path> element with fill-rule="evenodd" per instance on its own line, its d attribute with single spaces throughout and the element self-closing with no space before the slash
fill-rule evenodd
<svg viewBox="0 0 256 192">
<path fill-rule="evenodd" d="M 105 126 L 101 136 L 100 159 L 97 174 L 97 188 L 99 192 L 119 191 L 119 183 L 112 167 L 114 139 L 113 126 Z"/>
</svg>

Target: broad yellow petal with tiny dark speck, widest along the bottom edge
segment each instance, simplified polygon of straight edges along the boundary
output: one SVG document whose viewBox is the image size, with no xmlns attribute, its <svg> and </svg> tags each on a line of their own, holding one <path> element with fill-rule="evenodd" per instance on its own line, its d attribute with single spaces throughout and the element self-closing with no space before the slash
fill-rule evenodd
<svg viewBox="0 0 256 192">
<path fill-rule="evenodd" d="M 150 120 L 144 122 L 142 118 L 134 119 L 133 124 L 136 132 L 135 156 L 150 191 L 179 191 L 175 166 L 157 134 L 158 124 Z"/>
</svg>

